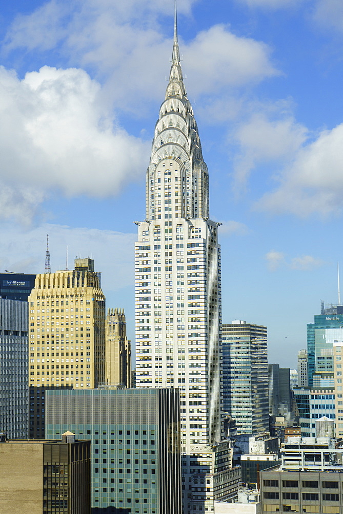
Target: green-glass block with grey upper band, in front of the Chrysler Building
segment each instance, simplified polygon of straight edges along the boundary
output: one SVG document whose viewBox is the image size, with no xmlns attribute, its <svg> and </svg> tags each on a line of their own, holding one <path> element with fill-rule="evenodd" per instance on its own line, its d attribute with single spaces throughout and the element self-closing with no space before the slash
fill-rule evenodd
<svg viewBox="0 0 343 514">
<path fill-rule="evenodd" d="M 92 512 L 180 514 L 179 391 L 46 392 L 46 431 L 92 440 Z"/>
</svg>

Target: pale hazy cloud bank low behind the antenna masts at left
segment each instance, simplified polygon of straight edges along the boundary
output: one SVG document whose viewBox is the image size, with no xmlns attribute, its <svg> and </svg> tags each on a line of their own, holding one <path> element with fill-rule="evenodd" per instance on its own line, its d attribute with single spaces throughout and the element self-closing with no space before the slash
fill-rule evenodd
<svg viewBox="0 0 343 514">
<path fill-rule="evenodd" d="M 52 224 L 23 230 L 18 225 L 3 224 L 0 228 L 1 272 L 7 269 L 22 273 L 43 273 L 47 233 L 52 272 L 65 269 L 68 246 L 68 268 L 73 268 L 73 259 L 77 256 L 91 256 L 95 260 L 96 271 L 102 272 L 104 289 L 118 291 L 133 286 L 133 248 L 137 236 L 111 230 Z"/>
</svg>

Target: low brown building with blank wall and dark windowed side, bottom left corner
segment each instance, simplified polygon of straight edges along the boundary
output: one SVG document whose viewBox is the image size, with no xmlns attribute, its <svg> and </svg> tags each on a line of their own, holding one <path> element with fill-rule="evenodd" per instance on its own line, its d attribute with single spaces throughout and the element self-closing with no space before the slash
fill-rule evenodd
<svg viewBox="0 0 343 514">
<path fill-rule="evenodd" d="M 6 514 L 90 514 L 90 441 L 0 442 L 0 508 Z"/>
</svg>

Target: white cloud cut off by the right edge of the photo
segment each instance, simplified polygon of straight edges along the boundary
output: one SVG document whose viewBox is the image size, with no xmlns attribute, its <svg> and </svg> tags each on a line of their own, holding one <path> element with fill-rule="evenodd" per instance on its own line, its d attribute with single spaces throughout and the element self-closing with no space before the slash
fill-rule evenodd
<svg viewBox="0 0 343 514">
<path fill-rule="evenodd" d="M 280 186 L 257 207 L 273 212 L 339 214 L 343 208 L 343 124 L 300 148 L 279 177 Z"/>
</svg>

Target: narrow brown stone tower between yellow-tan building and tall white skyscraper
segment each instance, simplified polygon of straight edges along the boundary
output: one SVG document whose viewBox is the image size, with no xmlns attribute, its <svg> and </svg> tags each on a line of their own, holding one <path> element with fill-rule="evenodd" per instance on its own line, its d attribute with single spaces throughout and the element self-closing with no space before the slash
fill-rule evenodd
<svg viewBox="0 0 343 514">
<path fill-rule="evenodd" d="M 131 387 L 131 341 L 124 309 L 108 309 L 106 317 L 106 385 Z"/>
</svg>

